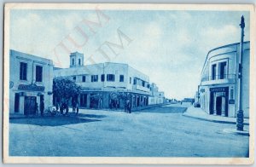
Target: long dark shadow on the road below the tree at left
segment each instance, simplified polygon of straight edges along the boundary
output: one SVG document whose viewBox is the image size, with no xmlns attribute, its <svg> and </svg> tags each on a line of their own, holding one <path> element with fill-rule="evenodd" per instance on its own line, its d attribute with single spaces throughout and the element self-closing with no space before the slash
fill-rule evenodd
<svg viewBox="0 0 256 167">
<path fill-rule="evenodd" d="M 9 119 L 10 124 L 33 124 L 38 126 L 61 126 L 67 124 L 81 124 L 101 121 L 99 119 L 77 117 L 48 117 L 48 118 L 17 118 Z"/>
</svg>

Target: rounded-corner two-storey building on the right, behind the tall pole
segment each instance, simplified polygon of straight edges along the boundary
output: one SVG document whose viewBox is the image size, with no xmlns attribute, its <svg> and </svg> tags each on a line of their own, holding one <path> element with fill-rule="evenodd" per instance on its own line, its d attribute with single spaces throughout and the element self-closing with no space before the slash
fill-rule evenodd
<svg viewBox="0 0 256 167">
<path fill-rule="evenodd" d="M 208 114 L 236 117 L 239 104 L 240 43 L 232 43 L 208 52 L 201 72 L 199 100 Z M 250 42 L 244 43 L 242 61 L 242 110 L 249 117 Z"/>
</svg>

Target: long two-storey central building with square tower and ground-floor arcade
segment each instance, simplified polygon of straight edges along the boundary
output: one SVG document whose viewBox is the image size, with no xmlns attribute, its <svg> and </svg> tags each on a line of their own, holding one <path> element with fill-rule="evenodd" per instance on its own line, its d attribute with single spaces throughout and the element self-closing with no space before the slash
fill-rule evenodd
<svg viewBox="0 0 256 167">
<path fill-rule="evenodd" d="M 81 93 L 75 97 L 80 107 L 124 108 L 125 101 L 131 107 L 148 106 L 150 84 L 147 75 L 121 63 L 99 63 L 84 66 L 84 55 L 74 52 L 70 55 L 69 68 L 55 68 L 55 78 L 70 78 L 81 86 Z M 119 98 L 120 95 L 126 97 Z M 59 102 L 54 97 L 54 104 Z M 70 105 L 70 104 L 69 104 Z"/>
</svg>

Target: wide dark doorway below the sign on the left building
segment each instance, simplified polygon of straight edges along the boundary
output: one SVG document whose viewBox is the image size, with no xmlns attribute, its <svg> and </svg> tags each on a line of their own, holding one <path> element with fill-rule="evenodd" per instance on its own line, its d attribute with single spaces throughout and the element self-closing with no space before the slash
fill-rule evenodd
<svg viewBox="0 0 256 167">
<path fill-rule="evenodd" d="M 24 101 L 24 114 L 33 115 L 36 113 L 36 96 L 26 96 Z"/>
</svg>

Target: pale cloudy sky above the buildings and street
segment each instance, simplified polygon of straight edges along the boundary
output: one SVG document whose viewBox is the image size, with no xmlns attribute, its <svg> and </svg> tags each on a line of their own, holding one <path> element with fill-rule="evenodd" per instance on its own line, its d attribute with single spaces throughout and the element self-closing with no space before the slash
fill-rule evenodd
<svg viewBox="0 0 256 167">
<path fill-rule="evenodd" d="M 195 96 L 207 52 L 240 41 L 241 15 L 249 40 L 246 11 L 97 12 L 12 9 L 10 49 L 51 59 L 63 68 L 69 66 L 69 52 L 75 51 L 84 54 L 84 65 L 127 63 L 148 75 L 167 98 L 182 100 Z M 120 44 L 119 37 L 123 46 L 109 48 L 106 43 Z"/>
</svg>

